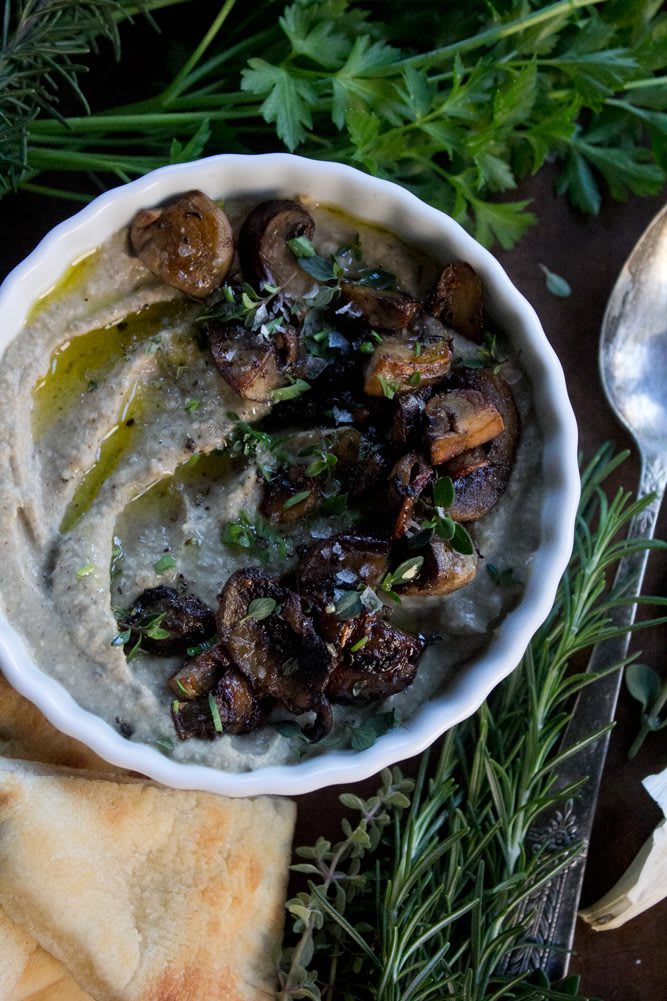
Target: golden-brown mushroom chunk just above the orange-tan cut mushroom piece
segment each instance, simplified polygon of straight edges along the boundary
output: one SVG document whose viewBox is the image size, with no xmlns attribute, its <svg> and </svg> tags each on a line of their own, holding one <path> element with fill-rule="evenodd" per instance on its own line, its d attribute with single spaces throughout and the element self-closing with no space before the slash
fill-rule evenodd
<svg viewBox="0 0 667 1001">
<path fill-rule="evenodd" d="M 369 396 L 414 392 L 418 385 L 440 382 L 451 365 L 452 341 L 449 337 L 426 344 L 410 334 L 385 337 L 367 365 L 364 391 Z"/>
</svg>

